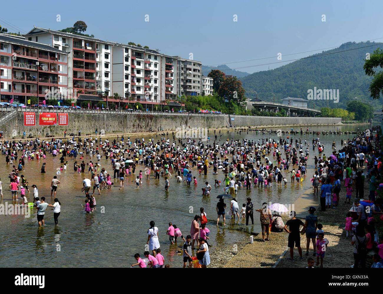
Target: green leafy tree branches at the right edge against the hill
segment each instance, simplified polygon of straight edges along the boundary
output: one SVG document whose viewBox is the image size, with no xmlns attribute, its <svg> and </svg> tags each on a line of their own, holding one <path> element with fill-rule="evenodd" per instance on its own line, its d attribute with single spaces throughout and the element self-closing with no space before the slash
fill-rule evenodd
<svg viewBox="0 0 383 294">
<path fill-rule="evenodd" d="M 373 99 L 379 99 L 380 94 L 383 94 L 383 72 L 380 70 L 377 73 L 375 71 L 377 67 L 383 68 L 383 50 L 380 48 L 376 49 L 370 55 L 370 59 L 366 59 L 363 65 L 366 75 L 373 77 L 368 88 Z"/>
</svg>

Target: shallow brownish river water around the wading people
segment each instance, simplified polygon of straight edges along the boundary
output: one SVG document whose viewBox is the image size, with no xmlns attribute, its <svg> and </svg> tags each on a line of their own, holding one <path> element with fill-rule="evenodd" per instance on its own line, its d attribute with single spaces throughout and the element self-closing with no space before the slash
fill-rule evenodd
<svg viewBox="0 0 383 294">
<path fill-rule="evenodd" d="M 359 126 L 360 129 L 365 126 Z M 358 126 L 342 126 L 344 131 L 356 130 Z M 304 127 L 303 130 L 306 128 Z M 336 130 L 336 127 L 311 128 L 311 130 L 323 131 Z M 290 130 L 285 128 L 282 130 Z M 237 134 L 231 132 L 221 132 L 218 138 L 246 138 L 262 139 L 269 137 L 268 133 L 255 134 L 255 132 L 242 132 Z M 171 137 L 171 134 L 169 134 Z M 214 134 L 210 132 L 211 138 Z M 160 136 L 159 136 L 160 137 Z M 275 137 L 275 135 L 274 135 Z M 313 135 L 292 136 L 293 140 L 297 138 L 307 139 L 311 145 Z M 340 139 L 352 137 L 327 135 L 322 136 L 321 143 L 325 145 L 325 154 L 331 154 L 331 144 L 335 140 L 337 148 L 340 148 Z M 291 135 L 290 135 L 291 138 Z M 313 173 L 313 160 L 311 158 L 318 154 L 316 150 L 313 154 L 312 147 L 309 147 L 308 178 L 299 184 L 288 183 L 286 187 L 277 187 L 273 182 L 271 189 L 253 188 L 251 191 L 239 189 L 236 196 L 239 206 L 246 203 L 246 198 L 251 197 L 254 208 L 261 207 L 263 202 L 278 202 L 283 204 L 293 203 L 301 193 L 311 187 L 309 178 Z M 86 158 L 85 162 L 89 162 Z M 27 161 L 26 170 L 21 173 L 29 181 L 29 189 L 36 184 L 39 188 L 39 197 L 46 197 L 46 202 L 53 204 L 53 198 L 50 197 L 50 184 L 52 177 L 56 174 L 56 168 L 60 166 L 59 157 L 53 158 L 51 155 L 44 160 L 47 163 L 47 173 L 41 174 L 40 168 L 43 160 Z M 133 177 L 128 177 L 125 187 L 120 189 L 119 182 L 115 180 L 115 186 L 110 191 L 103 189 L 101 195 L 95 195 L 97 201 L 97 212 L 85 214 L 81 207 L 84 204 L 82 180 L 84 175 L 74 174 L 72 165 L 74 160 L 69 161 L 68 170 L 58 176 L 61 181 L 57 189 L 57 198 L 61 201 L 61 215 L 59 225 L 54 225 L 53 211 L 51 207 L 47 208 L 44 220 L 46 226 L 38 228 L 36 209 L 32 209 L 31 217 L 25 218 L 20 215 L 0 215 L 0 266 L 2 267 L 40 267 L 60 266 L 60 267 L 126 267 L 135 263 L 133 255 L 140 253 L 141 256 L 145 250 L 147 240 L 147 229 L 149 222 L 154 220 L 159 228 L 159 240 L 162 255 L 165 257 L 165 263 L 172 267 L 182 266 L 182 255 L 177 254 L 177 245 L 170 245 L 166 230 L 168 223 L 176 224 L 183 233 L 183 236 L 190 232 L 191 221 L 195 214 L 199 214 L 200 207 L 205 207 L 208 219 L 216 218 L 216 196 L 223 193 L 221 188 L 212 189 L 210 197 L 201 196 L 201 188 L 205 181 L 210 184 L 214 179 L 223 182 L 224 175 L 212 175 L 212 169 L 208 175 L 197 175 L 193 170 L 193 176 L 196 176 L 198 185 L 196 187 L 187 187 L 186 184 L 176 183 L 175 176 L 170 179 L 169 193 L 164 191 L 164 180 L 146 180 L 142 179 L 140 189 L 135 189 Z M 93 162 L 95 158 L 93 157 Z M 110 173 L 112 168 L 110 162 L 105 159 L 100 160 L 101 167 L 105 167 Z M 3 181 L 4 199 L 1 203 L 12 203 L 11 193 L 8 188 L 8 174 L 11 172 L 11 165 L 5 165 L 5 156 L 0 157 L 0 177 Z M 144 167 L 141 168 L 144 170 Z M 137 167 L 137 171 L 140 167 Z M 290 166 L 291 170 L 291 166 Z M 138 173 L 136 173 L 138 175 Z M 88 176 L 88 174 L 85 174 Z M 290 176 L 286 175 L 290 181 Z M 113 178 L 112 178 L 113 180 Z M 96 192 L 97 193 L 97 192 Z M 33 201 L 33 194 L 26 193 L 28 201 Z M 20 203 L 20 200 L 18 201 Z M 229 201 L 228 208 L 230 205 Z M 100 212 L 101 206 L 105 207 L 105 213 Z M 190 213 L 191 209 L 193 212 Z M 226 210 L 228 212 L 228 209 Z M 255 225 L 249 226 L 253 232 L 259 232 L 259 214 L 254 212 Z M 226 220 L 227 223 L 232 221 Z M 243 223 L 240 221 L 240 223 Z M 243 236 L 242 232 L 229 229 L 228 227 L 216 227 L 215 223 L 209 223 L 208 228 L 211 231 L 209 243 L 213 245 L 210 250 L 214 250 L 217 245 L 235 243 Z M 182 240 L 178 239 L 178 245 L 182 245 Z"/>
</svg>

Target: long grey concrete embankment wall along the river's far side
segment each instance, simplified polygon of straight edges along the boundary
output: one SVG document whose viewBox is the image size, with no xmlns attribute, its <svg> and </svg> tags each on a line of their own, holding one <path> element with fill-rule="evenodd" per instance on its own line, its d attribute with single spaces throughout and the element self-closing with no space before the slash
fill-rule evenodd
<svg viewBox="0 0 383 294">
<path fill-rule="evenodd" d="M 23 132 L 28 137 L 62 136 L 67 134 L 137 134 L 159 131 L 176 131 L 177 128 L 199 127 L 218 129 L 232 126 L 236 127 L 263 127 L 263 126 L 316 126 L 340 124 L 340 118 L 280 118 L 265 116 L 236 116 L 236 115 L 209 115 L 209 114 L 134 114 L 134 113 L 69 113 L 68 126 L 38 126 L 38 113 L 36 113 L 36 126 L 24 126 L 23 112 L 18 112 L 11 118 L 0 123 L 0 131 L 5 138 L 20 138 Z M 103 131 L 102 131 L 103 130 Z"/>
</svg>

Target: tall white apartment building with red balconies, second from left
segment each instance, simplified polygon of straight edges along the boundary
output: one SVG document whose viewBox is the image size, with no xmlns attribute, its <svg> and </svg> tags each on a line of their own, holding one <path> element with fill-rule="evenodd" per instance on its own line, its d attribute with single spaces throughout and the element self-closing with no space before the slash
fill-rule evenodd
<svg viewBox="0 0 383 294">
<path fill-rule="evenodd" d="M 83 94 L 82 99 L 97 101 L 98 94 L 112 95 L 112 42 L 36 26 L 24 36 L 68 52 L 68 89 Z"/>
</svg>

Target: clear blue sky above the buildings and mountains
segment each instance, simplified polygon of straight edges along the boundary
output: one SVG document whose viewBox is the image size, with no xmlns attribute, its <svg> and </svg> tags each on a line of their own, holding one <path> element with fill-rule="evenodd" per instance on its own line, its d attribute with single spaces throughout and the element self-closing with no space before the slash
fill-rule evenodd
<svg viewBox="0 0 383 294">
<path fill-rule="evenodd" d="M 0 15 L 0 25 L 10 32 L 27 33 L 33 25 L 63 29 L 82 20 L 88 26 L 85 33 L 95 38 L 133 41 L 171 56 L 189 58 L 192 53 L 203 65 L 227 64 L 249 73 L 344 42 L 383 42 L 381 0 L 21 0 L 19 4 L 18 13 Z M 300 52 L 306 53 L 295 54 Z"/>
</svg>

